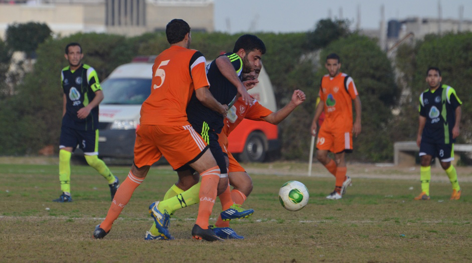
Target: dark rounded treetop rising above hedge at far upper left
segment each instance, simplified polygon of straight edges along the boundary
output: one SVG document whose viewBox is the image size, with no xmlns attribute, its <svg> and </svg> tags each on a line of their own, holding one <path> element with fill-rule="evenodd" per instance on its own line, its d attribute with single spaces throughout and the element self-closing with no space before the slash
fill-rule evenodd
<svg viewBox="0 0 472 263">
<path fill-rule="evenodd" d="M 32 58 L 39 44 L 45 42 L 51 33 L 51 29 L 44 23 L 15 23 L 7 28 L 7 44 L 10 49 L 23 51 L 28 58 Z"/>
</svg>

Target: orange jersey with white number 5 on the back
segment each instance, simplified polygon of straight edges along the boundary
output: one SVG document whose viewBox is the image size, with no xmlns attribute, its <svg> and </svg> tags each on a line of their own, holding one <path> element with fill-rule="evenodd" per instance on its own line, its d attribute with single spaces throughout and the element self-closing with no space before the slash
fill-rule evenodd
<svg viewBox="0 0 472 263">
<path fill-rule="evenodd" d="M 197 50 L 171 46 L 154 60 L 151 94 L 142 103 L 140 124 L 188 125 L 187 104 L 192 93 L 210 86 L 205 57 Z"/>
</svg>

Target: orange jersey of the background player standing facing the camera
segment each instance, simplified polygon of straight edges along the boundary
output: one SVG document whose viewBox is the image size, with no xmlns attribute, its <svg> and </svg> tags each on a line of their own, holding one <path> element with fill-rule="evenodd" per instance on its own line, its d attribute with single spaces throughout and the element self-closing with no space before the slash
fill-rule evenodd
<svg viewBox="0 0 472 263">
<path fill-rule="evenodd" d="M 353 79 L 341 72 L 334 78 L 325 75 L 321 81 L 319 96 L 325 103 L 324 129 L 332 132 L 351 132 L 352 100 L 358 96 Z"/>
</svg>

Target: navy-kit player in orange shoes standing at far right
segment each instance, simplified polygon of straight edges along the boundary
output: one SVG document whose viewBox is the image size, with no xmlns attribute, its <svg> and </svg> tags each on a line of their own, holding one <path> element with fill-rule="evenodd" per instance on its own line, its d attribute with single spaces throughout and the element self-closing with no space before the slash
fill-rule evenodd
<svg viewBox="0 0 472 263">
<path fill-rule="evenodd" d="M 415 200 L 429 200 L 431 160 L 438 157 L 452 184 L 451 200 L 460 198 L 461 189 L 457 172 L 451 161 L 454 159 L 454 142 L 459 135 L 460 105 L 455 90 L 441 84 L 441 71 L 431 67 L 426 72 L 429 89 L 420 95 L 419 128 L 416 144 L 421 158 L 421 193 Z"/>
</svg>

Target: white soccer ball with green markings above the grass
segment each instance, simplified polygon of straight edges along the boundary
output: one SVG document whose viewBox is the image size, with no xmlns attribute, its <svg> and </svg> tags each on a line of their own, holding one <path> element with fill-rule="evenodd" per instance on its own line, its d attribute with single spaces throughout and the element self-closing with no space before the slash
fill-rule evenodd
<svg viewBox="0 0 472 263">
<path fill-rule="evenodd" d="M 278 191 L 278 200 L 290 211 L 298 211 L 308 203 L 308 189 L 299 181 L 288 181 Z"/>
</svg>

